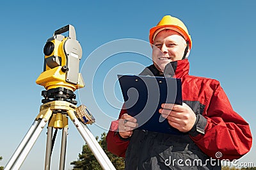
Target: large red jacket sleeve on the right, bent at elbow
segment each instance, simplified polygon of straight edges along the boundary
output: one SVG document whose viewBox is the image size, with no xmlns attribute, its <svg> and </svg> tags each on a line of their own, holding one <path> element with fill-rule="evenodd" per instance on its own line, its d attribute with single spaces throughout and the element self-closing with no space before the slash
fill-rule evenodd
<svg viewBox="0 0 256 170">
<path fill-rule="evenodd" d="M 250 127 L 232 109 L 219 83 L 203 116 L 207 121 L 205 134 L 191 135 L 191 139 L 205 154 L 212 158 L 233 160 L 248 153 L 252 147 Z"/>
</svg>

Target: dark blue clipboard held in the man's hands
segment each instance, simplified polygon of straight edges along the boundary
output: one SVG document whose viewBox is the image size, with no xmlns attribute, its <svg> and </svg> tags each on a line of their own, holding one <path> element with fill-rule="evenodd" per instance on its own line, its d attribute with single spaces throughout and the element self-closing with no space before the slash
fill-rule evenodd
<svg viewBox="0 0 256 170">
<path fill-rule="evenodd" d="M 161 104 L 182 105 L 181 80 L 145 75 L 117 75 L 127 114 L 136 118 L 140 130 L 182 135 L 159 114 Z"/>
</svg>

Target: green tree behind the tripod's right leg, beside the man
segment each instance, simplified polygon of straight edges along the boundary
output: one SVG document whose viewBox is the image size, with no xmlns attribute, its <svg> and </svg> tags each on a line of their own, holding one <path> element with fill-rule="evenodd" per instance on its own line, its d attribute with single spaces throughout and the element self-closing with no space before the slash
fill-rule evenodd
<svg viewBox="0 0 256 170">
<path fill-rule="evenodd" d="M 96 140 L 98 141 L 99 137 L 96 137 Z M 105 151 L 106 155 L 108 155 L 109 159 L 111 160 L 113 166 L 115 166 L 116 169 L 124 169 L 124 158 L 117 157 L 116 155 L 110 153 L 107 150 L 107 142 L 106 142 L 106 133 L 104 132 L 101 134 L 100 140 L 98 141 L 101 148 Z M 74 165 L 74 170 L 85 170 L 85 169 L 102 169 L 100 167 L 99 162 L 93 155 L 92 151 L 90 150 L 89 146 L 87 144 L 83 145 L 82 153 L 79 153 L 78 159 L 71 162 L 71 165 Z"/>
</svg>

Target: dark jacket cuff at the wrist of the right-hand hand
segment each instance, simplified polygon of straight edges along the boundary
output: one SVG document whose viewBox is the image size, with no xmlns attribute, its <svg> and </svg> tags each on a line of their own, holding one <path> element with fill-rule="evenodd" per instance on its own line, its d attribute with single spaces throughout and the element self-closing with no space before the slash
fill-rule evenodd
<svg viewBox="0 0 256 170">
<path fill-rule="evenodd" d="M 189 130 L 188 134 L 195 137 L 198 134 L 205 134 L 205 127 L 207 125 L 207 120 L 202 114 L 196 114 L 195 125 Z"/>
</svg>

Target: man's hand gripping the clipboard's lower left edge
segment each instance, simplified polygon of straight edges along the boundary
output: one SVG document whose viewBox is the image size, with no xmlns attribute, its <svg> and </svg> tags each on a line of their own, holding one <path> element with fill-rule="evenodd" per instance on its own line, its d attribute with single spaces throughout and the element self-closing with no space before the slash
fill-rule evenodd
<svg viewBox="0 0 256 170">
<path fill-rule="evenodd" d="M 119 134 L 123 138 L 128 138 L 132 135 L 134 128 L 138 127 L 137 120 L 129 114 L 123 114 L 118 121 Z"/>
</svg>

